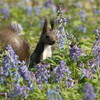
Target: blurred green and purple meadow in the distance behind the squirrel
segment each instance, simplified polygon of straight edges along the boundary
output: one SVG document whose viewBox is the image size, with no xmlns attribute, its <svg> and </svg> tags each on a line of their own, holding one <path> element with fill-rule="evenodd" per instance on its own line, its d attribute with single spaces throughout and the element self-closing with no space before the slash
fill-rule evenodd
<svg viewBox="0 0 100 100">
<path fill-rule="evenodd" d="M 95 35 L 93 31 L 100 26 L 99 0 L 0 0 L 0 24 L 19 23 L 23 37 L 34 48 L 44 17 L 56 19 L 59 5 L 67 20 L 65 29 L 77 41 Z"/>
</svg>

